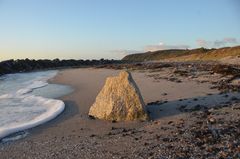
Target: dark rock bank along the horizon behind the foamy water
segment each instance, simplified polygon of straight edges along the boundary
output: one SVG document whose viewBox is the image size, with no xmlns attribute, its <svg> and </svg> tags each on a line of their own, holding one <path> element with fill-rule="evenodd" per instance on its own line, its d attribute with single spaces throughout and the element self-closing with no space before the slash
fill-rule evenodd
<svg viewBox="0 0 240 159">
<path fill-rule="evenodd" d="M 118 60 L 7 60 L 0 62 L 0 75 L 17 72 L 29 72 L 35 70 L 67 68 L 67 67 L 88 67 L 106 64 L 118 64 Z"/>
</svg>

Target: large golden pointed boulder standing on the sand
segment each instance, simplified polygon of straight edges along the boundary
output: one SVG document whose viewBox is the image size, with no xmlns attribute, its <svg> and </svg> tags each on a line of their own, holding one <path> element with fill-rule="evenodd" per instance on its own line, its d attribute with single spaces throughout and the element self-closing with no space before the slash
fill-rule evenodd
<svg viewBox="0 0 240 159">
<path fill-rule="evenodd" d="M 140 91 L 129 72 L 107 78 L 89 116 L 112 121 L 148 119 Z"/>
</svg>

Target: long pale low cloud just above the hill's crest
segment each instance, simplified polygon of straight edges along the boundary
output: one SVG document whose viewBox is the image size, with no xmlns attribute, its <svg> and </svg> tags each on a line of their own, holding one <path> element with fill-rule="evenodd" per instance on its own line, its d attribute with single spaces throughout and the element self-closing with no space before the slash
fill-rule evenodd
<svg viewBox="0 0 240 159">
<path fill-rule="evenodd" d="M 157 51 L 157 50 L 169 50 L 169 49 L 188 49 L 189 45 L 166 45 L 164 43 L 159 43 L 158 45 L 147 45 L 145 46 L 145 51 Z"/>
</svg>

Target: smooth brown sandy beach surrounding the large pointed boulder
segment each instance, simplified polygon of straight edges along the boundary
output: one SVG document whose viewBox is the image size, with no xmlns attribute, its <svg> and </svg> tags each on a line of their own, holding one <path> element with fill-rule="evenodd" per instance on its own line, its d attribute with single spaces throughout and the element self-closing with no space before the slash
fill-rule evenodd
<svg viewBox="0 0 240 159">
<path fill-rule="evenodd" d="M 151 120 L 116 123 L 92 120 L 88 111 L 105 79 L 118 74 L 119 70 L 61 70 L 50 82 L 74 89 L 61 98 L 66 104 L 65 111 L 56 119 L 28 130 L 27 137 L 0 144 L 0 158 L 176 158 L 186 155 L 179 145 L 173 145 L 182 140 L 184 152 L 193 151 L 188 143 L 191 139 L 187 142 L 179 133 L 180 129 L 192 128 L 202 115 L 201 111 L 193 110 L 231 104 L 231 98 L 239 94 L 221 94 L 209 81 L 200 82 L 208 79 L 205 75 L 178 76 L 178 80 L 171 80 L 168 77 L 172 77 L 173 70 L 132 71 Z M 211 80 L 218 78 L 212 75 Z M 194 151 L 200 155 L 203 150 L 199 147 Z"/>
</svg>

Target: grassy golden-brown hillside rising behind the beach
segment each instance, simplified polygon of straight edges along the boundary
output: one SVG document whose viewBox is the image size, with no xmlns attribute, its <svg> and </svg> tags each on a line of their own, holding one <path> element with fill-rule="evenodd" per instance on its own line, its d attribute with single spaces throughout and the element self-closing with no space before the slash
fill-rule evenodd
<svg viewBox="0 0 240 159">
<path fill-rule="evenodd" d="M 225 57 L 240 56 L 240 46 L 220 49 L 192 49 L 192 50 L 159 50 L 127 55 L 123 60 L 128 61 L 194 61 L 194 60 L 220 60 Z"/>
</svg>

